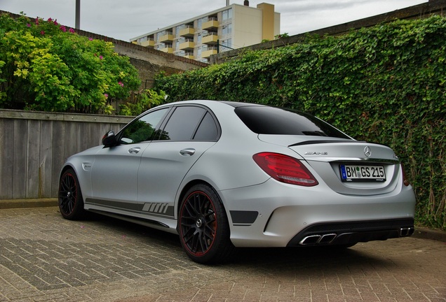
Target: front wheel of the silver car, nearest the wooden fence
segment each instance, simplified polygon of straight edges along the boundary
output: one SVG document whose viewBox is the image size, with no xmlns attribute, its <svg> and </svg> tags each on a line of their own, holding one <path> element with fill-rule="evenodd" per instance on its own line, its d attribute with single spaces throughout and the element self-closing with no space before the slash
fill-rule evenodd
<svg viewBox="0 0 446 302">
<path fill-rule="evenodd" d="M 59 210 L 62 217 L 67 220 L 80 220 L 85 217 L 81 187 L 72 168 L 62 173 L 58 196 Z"/>
</svg>

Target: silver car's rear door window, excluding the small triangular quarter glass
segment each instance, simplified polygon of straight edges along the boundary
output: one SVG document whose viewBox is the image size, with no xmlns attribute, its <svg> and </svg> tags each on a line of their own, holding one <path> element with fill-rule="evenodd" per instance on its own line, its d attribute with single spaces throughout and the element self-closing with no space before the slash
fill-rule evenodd
<svg viewBox="0 0 446 302">
<path fill-rule="evenodd" d="M 201 107 L 177 107 L 165 125 L 161 139 L 172 141 L 191 140 L 205 113 L 206 110 Z"/>
</svg>

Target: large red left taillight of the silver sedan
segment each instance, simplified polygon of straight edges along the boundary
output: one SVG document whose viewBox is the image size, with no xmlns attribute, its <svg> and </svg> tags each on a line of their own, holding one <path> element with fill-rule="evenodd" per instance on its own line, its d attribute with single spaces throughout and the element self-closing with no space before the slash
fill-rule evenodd
<svg viewBox="0 0 446 302">
<path fill-rule="evenodd" d="M 252 159 L 275 180 L 292 185 L 312 187 L 318 181 L 299 159 L 288 155 L 262 152 L 252 156 Z"/>
</svg>

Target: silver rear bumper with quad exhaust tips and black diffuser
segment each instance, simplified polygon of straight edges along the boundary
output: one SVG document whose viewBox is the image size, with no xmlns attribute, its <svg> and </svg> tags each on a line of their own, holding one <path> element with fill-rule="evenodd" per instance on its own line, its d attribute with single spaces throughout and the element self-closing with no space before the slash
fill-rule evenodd
<svg viewBox="0 0 446 302">
<path fill-rule="evenodd" d="M 415 196 L 403 185 L 387 194 L 349 196 L 324 184 L 308 188 L 268 180 L 219 194 L 236 247 L 347 245 L 413 233 Z"/>
</svg>

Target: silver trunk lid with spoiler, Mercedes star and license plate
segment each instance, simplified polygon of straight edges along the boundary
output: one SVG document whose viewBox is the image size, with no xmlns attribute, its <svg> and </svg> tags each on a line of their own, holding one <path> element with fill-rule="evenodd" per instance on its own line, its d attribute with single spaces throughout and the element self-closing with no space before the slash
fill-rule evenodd
<svg viewBox="0 0 446 302">
<path fill-rule="evenodd" d="M 403 181 L 398 157 L 385 145 L 320 136 L 259 135 L 259 139 L 299 154 L 314 176 L 339 194 L 387 194 Z"/>
</svg>

